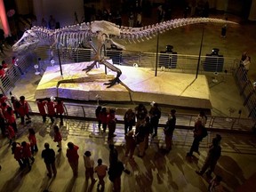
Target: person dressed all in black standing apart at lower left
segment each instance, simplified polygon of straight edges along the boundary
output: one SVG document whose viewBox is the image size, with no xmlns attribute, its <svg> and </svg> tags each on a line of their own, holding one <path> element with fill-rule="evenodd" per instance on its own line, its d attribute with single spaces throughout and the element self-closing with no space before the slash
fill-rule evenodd
<svg viewBox="0 0 256 192">
<path fill-rule="evenodd" d="M 46 169 L 48 171 L 47 176 L 52 178 L 56 176 L 57 170 L 55 166 L 55 152 L 52 148 L 50 148 L 49 143 L 44 143 L 44 150 L 42 151 L 42 158 L 44 158 L 44 164 L 46 165 Z"/>
</svg>

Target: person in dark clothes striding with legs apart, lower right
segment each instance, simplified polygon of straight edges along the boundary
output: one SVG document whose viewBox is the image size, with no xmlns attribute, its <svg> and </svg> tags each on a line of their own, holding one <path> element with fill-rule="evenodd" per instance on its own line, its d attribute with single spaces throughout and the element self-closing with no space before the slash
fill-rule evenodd
<svg viewBox="0 0 256 192">
<path fill-rule="evenodd" d="M 217 161 L 219 160 L 220 155 L 221 155 L 221 147 L 220 147 L 219 143 L 220 143 L 220 140 L 218 140 L 218 138 L 213 138 L 212 145 L 209 148 L 207 157 L 204 161 L 204 165 L 201 168 L 201 170 L 199 170 L 199 171 L 196 170 L 197 174 L 203 175 L 204 172 L 206 172 L 206 170 L 208 168 L 210 168 L 206 172 L 206 175 L 207 175 L 207 177 L 211 178 L 211 174 L 212 174 L 212 172 L 214 172 L 215 165 L 217 164 Z"/>
</svg>

